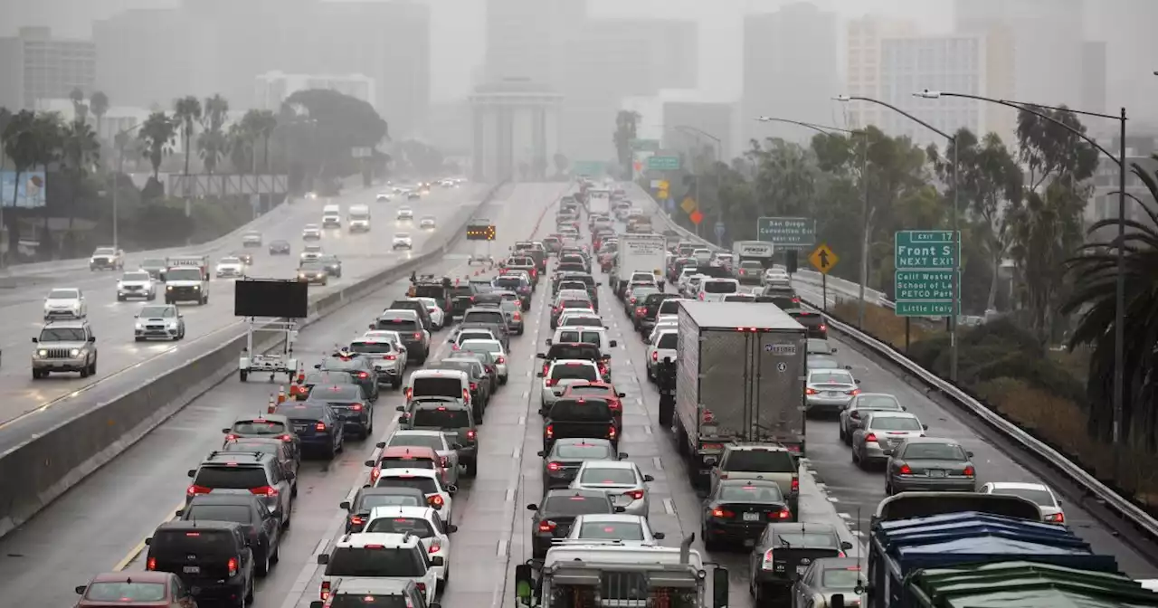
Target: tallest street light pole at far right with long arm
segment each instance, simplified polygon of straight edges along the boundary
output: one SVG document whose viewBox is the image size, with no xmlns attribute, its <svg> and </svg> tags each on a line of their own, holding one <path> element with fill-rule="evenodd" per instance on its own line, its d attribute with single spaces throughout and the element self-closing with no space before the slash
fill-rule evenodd
<svg viewBox="0 0 1158 608">
<path fill-rule="evenodd" d="M 1155 72 L 1158 75 L 1158 72 Z M 937 100 L 940 97 L 962 97 L 966 100 L 976 100 L 988 103 L 996 103 L 998 105 L 1005 105 L 1006 108 L 1012 108 L 1018 111 L 1024 111 L 1036 116 L 1038 118 L 1043 118 L 1071 134 L 1082 138 L 1086 144 L 1093 146 L 1098 152 L 1101 152 L 1111 161 L 1117 163 L 1117 255 L 1115 256 L 1117 263 L 1117 276 L 1114 280 L 1114 420 L 1112 423 L 1112 433 L 1114 444 L 1122 438 L 1122 405 L 1126 400 L 1126 108 L 1121 109 L 1117 116 L 1101 113 L 1101 112 L 1087 112 L 1084 110 L 1072 110 L 1070 108 L 1060 108 L 1053 105 L 1039 105 L 1035 103 L 1016 102 L 1009 100 L 995 100 L 991 97 L 983 97 L 981 95 L 969 95 L 966 93 L 945 93 L 938 90 L 925 89 L 921 93 L 914 93 L 914 96 L 923 97 L 926 100 Z M 1069 113 L 1077 113 L 1083 116 L 1093 116 L 1097 118 L 1106 118 L 1109 120 L 1117 120 L 1120 131 L 1117 138 L 1117 156 L 1115 158 L 1106 148 L 1101 147 L 1097 141 L 1091 139 L 1089 135 L 1073 129 L 1072 126 L 1042 113 L 1039 110 L 1055 110 Z M 1115 457 L 1116 457 L 1115 452 Z"/>
</svg>

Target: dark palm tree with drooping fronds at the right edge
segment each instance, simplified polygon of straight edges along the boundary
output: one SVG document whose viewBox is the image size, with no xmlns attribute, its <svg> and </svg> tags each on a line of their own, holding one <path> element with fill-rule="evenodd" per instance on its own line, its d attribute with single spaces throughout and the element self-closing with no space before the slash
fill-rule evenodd
<svg viewBox="0 0 1158 608">
<path fill-rule="evenodd" d="M 1133 173 L 1145 185 L 1150 199 L 1158 197 L 1158 181 L 1141 166 Z M 1122 400 L 1122 439 L 1134 446 L 1151 450 L 1158 445 L 1158 411 L 1156 378 L 1158 366 L 1153 336 L 1158 335 L 1158 213 L 1141 205 L 1149 221 L 1127 219 L 1126 240 L 1119 241 L 1116 230 L 1112 240 L 1098 239 L 1101 229 L 1117 225 L 1117 218 L 1107 218 L 1091 226 L 1091 241 L 1065 261 L 1065 269 L 1073 288 L 1060 307 L 1062 314 L 1077 314 L 1068 346 L 1092 349 L 1086 386 L 1089 395 L 1089 427 L 1100 439 L 1113 439 L 1113 378 L 1115 367 L 1114 335 L 1117 323 L 1116 283 L 1119 273 L 1126 283 L 1126 378 Z M 1117 252 L 1122 250 L 1124 264 L 1119 270 Z"/>
</svg>

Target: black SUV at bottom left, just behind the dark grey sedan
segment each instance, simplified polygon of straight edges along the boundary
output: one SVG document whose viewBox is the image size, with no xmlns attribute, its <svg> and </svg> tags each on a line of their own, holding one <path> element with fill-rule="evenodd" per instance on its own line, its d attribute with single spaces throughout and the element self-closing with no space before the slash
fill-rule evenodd
<svg viewBox="0 0 1158 608">
<path fill-rule="evenodd" d="M 167 521 L 145 539 L 145 566 L 173 572 L 197 601 L 243 607 L 254 601 L 254 551 L 234 521 Z"/>
</svg>

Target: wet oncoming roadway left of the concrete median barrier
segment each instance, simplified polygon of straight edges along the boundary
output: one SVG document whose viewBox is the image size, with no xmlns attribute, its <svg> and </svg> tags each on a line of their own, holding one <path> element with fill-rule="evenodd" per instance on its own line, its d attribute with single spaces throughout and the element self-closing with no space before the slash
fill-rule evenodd
<svg viewBox="0 0 1158 608">
<path fill-rule="evenodd" d="M 442 222 L 450 222 L 459 215 L 464 206 L 477 205 L 485 191 L 486 186 L 481 184 L 463 184 L 448 190 L 435 188 L 425 199 L 411 202 L 410 206 L 416 210 L 416 218 L 430 213 L 442 226 Z M 372 232 L 352 235 L 339 229 L 325 230 L 322 248 L 342 259 L 343 273 L 340 279 L 331 278 L 325 287 L 312 287 L 312 294 L 340 288 L 406 256 L 420 254 L 431 232 L 418 230 L 417 221 L 396 222 L 395 210 L 404 203 L 375 203 L 374 193 L 359 190 L 332 199 L 299 200 L 292 208 L 272 212 L 271 215 L 276 217 L 262 229 L 263 247 L 249 250 L 254 255 L 254 265 L 248 274 L 258 278 L 292 277 L 302 246 L 301 227 L 308 222 L 321 222 L 322 206 L 329 202 L 342 204 L 343 208 L 354 203 L 371 205 L 374 214 Z M 413 254 L 390 250 L 389 239 L 395 232 L 415 235 Z M 267 244 L 278 239 L 290 241 L 293 246 L 291 255 L 269 255 Z M 240 250 L 240 237 L 236 243 L 222 244 L 219 254 L 210 256 L 211 266 L 223 255 Z M 144 380 L 178 366 L 241 331 L 239 321 L 233 316 L 233 279 L 214 278 L 206 306 L 179 305 L 185 317 L 184 340 L 134 342 L 133 315 L 142 302 L 117 301 L 116 283 L 119 277 L 119 272 L 90 273 L 83 270 L 65 273 L 59 283 L 52 285 L 83 290 L 88 322 L 98 349 L 97 374 L 87 379 L 79 378 L 79 374 L 52 374 L 35 381 L 31 378 L 29 360 L 34 345 L 30 338 L 43 325 L 43 298 L 50 287 L 28 285 L 20 290 L 28 295 L 25 301 L 7 306 L 0 303 L 0 315 L 8 320 L 0 329 L 0 347 L 6 354 L 5 365 L 0 368 L 0 452 L 102 400 L 139 386 Z M 163 302 L 163 296 L 156 301 Z"/>
</svg>

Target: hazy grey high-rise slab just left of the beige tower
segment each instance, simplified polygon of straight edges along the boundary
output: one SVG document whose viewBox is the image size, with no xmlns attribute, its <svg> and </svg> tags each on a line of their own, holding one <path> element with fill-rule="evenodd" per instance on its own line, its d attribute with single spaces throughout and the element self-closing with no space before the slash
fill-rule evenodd
<svg viewBox="0 0 1158 608">
<path fill-rule="evenodd" d="M 745 17 L 740 120 L 745 139 L 800 135 L 799 130 L 756 123 L 757 116 L 833 122 L 836 110 L 829 100 L 841 93 L 836 28 L 834 13 L 807 2 Z"/>
</svg>

